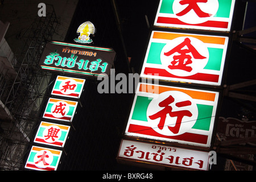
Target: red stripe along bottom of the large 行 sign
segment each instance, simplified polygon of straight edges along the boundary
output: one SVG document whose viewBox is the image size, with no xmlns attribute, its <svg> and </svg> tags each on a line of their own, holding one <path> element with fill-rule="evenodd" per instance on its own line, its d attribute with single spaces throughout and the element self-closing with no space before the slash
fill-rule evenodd
<svg viewBox="0 0 256 182">
<path fill-rule="evenodd" d="M 177 135 L 177 136 L 166 136 L 166 135 L 157 133 L 151 127 L 133 125 L 133 124 L 130 124 L 128 132 L 129 133 L 138 133 L 138 134 L 143 134 L 143 135 L 150 135 L 153 137 L 183 140 L 185 142 L 194 142 L 194 143 L 201 143 L 201 144 L 207 144 L 207 139 L 208 139 L 207 135 L 200 135 L 200 134 L 193 134 L 193 133 L 184 133 L 184 134 Z"/>
</svg>

